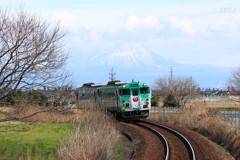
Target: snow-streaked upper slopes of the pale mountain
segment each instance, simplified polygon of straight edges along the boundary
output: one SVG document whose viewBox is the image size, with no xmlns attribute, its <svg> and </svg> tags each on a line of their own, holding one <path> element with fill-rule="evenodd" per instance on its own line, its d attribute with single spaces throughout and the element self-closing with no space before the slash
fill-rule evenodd
<svg viewBox="0 0 240 160">
<path fill-rule="evenodd" d="M 156 58 L 157 57 L 157 58 Z M 87 59 L 87 60 L 86 60 Z M 163 57 L 150 52 L 139 44 L 118 42 L 115 45 L 100 50 L 95 54 L 86 55 L 79 62 L 82 66 L 118 66 L 118 67 L 139 67 L 156 66 L 157 60 L 164 60 Z M 167 60 L 165 60 L 167 61 Z"/>
</svg>

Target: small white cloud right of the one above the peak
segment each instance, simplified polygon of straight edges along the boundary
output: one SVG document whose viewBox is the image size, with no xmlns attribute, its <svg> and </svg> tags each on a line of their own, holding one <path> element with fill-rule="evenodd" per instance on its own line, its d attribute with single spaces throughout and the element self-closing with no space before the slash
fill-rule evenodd
<svg viewBox="0 0 240 160">
<path fill-rule="evenodd" d="M 169 21 L 173 29 L 180 29 L 183 33 L 187 35 L 195 35 L 195 30 L 193 29 L 190 19 L 171 17 L 169 18 Z"/>
</svg>

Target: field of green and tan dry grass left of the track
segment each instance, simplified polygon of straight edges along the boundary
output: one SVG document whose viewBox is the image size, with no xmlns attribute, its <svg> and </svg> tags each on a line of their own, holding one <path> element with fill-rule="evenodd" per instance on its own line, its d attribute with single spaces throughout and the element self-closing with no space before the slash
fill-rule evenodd
<svg viewBox="0 0 240 160">
<path fill-rule="evenodd" d="M 18 112 L 0 107 L 0 112 L 23 117 L 38 111 L 33 107 L 15 109 Z M 0 115 L 0 120 L 5 117 Z M 25 121 L 0 121 L 0 159 L 121 160 L 126 149 L 115 119 L 91 106 L 42 112 Z"/>
</svg>

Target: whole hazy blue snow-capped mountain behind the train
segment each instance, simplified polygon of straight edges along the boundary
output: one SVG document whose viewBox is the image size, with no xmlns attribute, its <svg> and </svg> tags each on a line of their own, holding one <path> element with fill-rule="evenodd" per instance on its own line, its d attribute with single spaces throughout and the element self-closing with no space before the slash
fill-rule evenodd
<svg viewBox="0 0 240 160">
<path fill-rule="evenodd" d="M 153 84 L 160 76 L 168 76 L 173 69 L 174 76 L 192 77 L 202 88 L 223 86 L 232 68 L 210 65 L 187 65 L 177 63 L 151 52 L 135 43 L 118 42 L 108 48 L 79 52 L 72 57 L 70 68 L 78 83 L 107 83 L 111 68 L 116 79 L 145 81 Z"/>
</svg>

